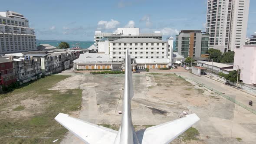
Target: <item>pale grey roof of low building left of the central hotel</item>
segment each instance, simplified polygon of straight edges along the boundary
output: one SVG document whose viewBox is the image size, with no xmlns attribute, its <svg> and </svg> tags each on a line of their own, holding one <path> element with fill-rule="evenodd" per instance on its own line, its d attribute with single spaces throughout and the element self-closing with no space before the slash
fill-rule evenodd
<svg viewBox="0 0 256 144">
<path fill-rule="evenodd" d="M 79 58 L 73 62 L 112 62 L 112 59 L 106 54 L 85 52 L 84 54 L 80 54 Z"/>
</svg>

